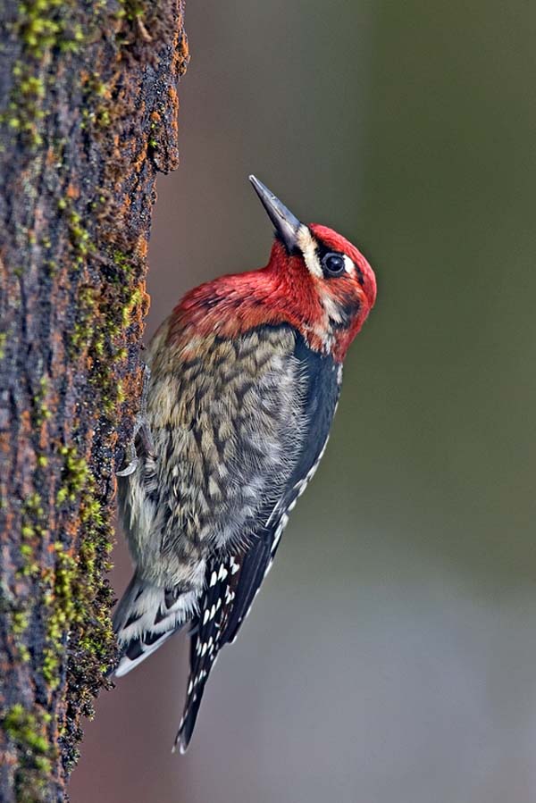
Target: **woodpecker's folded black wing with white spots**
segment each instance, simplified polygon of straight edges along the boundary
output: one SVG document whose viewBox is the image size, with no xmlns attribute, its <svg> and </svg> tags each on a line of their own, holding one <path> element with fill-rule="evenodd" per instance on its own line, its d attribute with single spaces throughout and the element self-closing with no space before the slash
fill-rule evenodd
<svg viewBox="0 0 536 803">
<path fill-rule="evenodd" d="M 207 565 L 205 592 L 191 633 L 187 699 L 175 742 L 182 752 L 188 747 L 216 657 L 224 644 L 235 640 L 272 565 L 289 511 L 306 489 L 328 439 L 339 397 L 339 372 L 331 360 L 314 355 L 299 343 L 296 355 L 306 378 L 303 409 L 309 422 L 308 436 L 280 498 L 264 507 L 264 525 L 242 548 L 216 554 Z"/>
</svg>

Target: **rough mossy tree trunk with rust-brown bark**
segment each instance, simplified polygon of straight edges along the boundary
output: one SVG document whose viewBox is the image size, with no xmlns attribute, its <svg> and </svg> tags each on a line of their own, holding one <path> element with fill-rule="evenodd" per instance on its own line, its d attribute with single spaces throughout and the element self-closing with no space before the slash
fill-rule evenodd
<svg viewBox="0 0 536 803">
<path fill-rule="evenodd" d="M 0 799 L 61 800 L 114 658 L 114 470 L 141 390 L 180 0 L 6 0 L 0 50 Z"/>
</svg>

